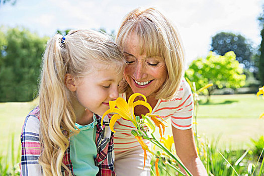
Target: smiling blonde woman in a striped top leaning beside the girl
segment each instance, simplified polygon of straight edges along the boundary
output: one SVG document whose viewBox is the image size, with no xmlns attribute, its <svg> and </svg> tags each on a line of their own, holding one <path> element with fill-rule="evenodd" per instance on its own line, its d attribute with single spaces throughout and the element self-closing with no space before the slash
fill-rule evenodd
<svg viewBox="0 0 264 176">
<path fill-rule="evenodd" d="M 121 96 L 128 100 L 133 93 L 145 95 L 152 113 L 171 119 L 175 148 L 187 168 L 193 175 L 207 175 L 194 142 L 193 99 L 183 77 L 184 49 L 177 30 L 156 9 L 135 9 L 124 18 L 116 42 L 128 63 Z M 142 106 L 135 107 L 135 115 L 147 112 Z M 150 157 L 143 169 L 144 153 L 130 133 L 132 128 L 124 119 L 115 125 L 116 174 L 150 175 Z"/>
</svg>

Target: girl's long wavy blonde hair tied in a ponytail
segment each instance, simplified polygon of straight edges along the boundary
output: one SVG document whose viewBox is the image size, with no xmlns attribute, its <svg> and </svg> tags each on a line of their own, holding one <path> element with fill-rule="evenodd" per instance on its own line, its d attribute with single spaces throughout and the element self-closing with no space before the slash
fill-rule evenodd
<svg viewBox="0 0 264 176">
<path fill-rule="evenodd" d="M 38 161 L 43 175 L 62 175 L 62 167 L 71 175 L 62 158 L 69 137 L 78 133 L 78 129 L 64 76 L 66 73 L 84 76 L 98 69 L 97 63 L 114 67 L 117 72 L 125 66 L 119 47 L 100 32 L 71 30 L 65 40 L 56 34 L 47 44 L 39 86 L 41 155 Z"/>
</svg>

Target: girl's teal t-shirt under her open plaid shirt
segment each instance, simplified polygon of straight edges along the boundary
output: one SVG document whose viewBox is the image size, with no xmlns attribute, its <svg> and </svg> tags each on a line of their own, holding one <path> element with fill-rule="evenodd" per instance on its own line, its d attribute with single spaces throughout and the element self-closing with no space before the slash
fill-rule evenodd
<svg viewBox="0 0 264 176">
<path fill-rule="evenodd" d="M 96 175 L 99 168 L 95 165 L 97 156 L 96 146 L 96 117 L 88 125 L 79 125 L 79 134 L 70 137 L 70 160 L 75 175 Z"/>
</svg>

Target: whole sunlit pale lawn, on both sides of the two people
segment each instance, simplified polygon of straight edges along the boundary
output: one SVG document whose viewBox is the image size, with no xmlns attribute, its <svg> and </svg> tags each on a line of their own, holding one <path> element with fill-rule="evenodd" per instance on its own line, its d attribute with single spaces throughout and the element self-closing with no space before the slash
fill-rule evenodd
<svg viewBox="0 0 264 176">
<path fill-rule="evenodd" d="M 204 99 L 204 97 L 201 97 Z M 258 119 L 264 111 L 264 100 L 254 94 L 212 96 L 211 102 L 200 102 L 198 111 L 198 132 L 209 139 L 221 136 L 221 147 L 247 148 L 250 138 L 264 135 L 264 119 Z M 15 142 L 20 144 L 20 133 L 24 119 L 37 102 L 0 103 L 0 153 L 7 151 L 9 137 L 15 134 Z M 166 134 L 171 132 L 170 123 Z"/>
</svg>

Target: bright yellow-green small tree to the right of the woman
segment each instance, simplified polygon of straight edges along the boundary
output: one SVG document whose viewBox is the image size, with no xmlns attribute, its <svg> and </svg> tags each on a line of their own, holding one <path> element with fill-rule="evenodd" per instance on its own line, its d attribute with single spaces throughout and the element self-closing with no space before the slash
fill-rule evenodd
<svg viewBox="0 0 264 176">
<path fill-rule="evenodd" d="M 208 89 L 209 97 L 216 88 L 238 89 L 245 84 L 246 76 L 242 74 L 243 70 L 235 57 L 233 51 L 227 52 L 224 56 L 210 52 L 206 58 L 194 60 L 186 70 L 185 76 L 196 82 L 197 90 L 208 83 L 213 83 L 214 85 Z"/>
</svg>

